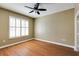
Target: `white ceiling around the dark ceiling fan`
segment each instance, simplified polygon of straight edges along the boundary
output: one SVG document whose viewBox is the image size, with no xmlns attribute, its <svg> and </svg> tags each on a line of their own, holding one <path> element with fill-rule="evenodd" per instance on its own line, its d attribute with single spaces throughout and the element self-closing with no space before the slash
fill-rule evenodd
<svg viewBox="0 0 79 59">
<path fill-rule="evenodd" d="M 36 13 L 29 13 L 31 9 L 25 8 L 24 6 L 33 7 L 35 3 L 0 3 L 0 7 L 9 9 L 14 12 L 21 13 L 23 15 L 31 16 L 33 18 L 53 14 L 63 10 L 74 8 L 73 3 L 41 3 L 39 8 L 46 8 L 47 11 L 40 11 L 40 15 Z"/>
</svg>

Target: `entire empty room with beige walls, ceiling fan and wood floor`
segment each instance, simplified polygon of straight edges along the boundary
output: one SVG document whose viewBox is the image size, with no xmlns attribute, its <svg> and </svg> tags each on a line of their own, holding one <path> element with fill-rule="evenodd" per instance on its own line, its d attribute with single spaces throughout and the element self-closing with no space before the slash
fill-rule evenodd
<svg viewBox="0 0 79 59">
<path fill-rule="evenodd" d="M 78 56 L 78 6 L 0 3 L 0 56 Z"/>
</svg>

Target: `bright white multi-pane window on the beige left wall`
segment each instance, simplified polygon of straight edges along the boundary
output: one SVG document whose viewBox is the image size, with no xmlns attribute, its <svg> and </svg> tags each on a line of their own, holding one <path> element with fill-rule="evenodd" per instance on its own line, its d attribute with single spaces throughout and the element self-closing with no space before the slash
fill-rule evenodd
<svg viewBox="0 0 79 59">
<path fill-rule="evenodd" d="M 9 17 L 9 37 L 20 37 L 29 35 L 28 21 L 21 18 Z"/>
</svg>

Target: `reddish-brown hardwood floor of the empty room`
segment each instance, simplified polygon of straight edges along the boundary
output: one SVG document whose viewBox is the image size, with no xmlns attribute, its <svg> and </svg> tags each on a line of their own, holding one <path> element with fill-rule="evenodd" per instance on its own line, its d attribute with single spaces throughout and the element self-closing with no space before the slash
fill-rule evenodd
<svg viewBox="0 0 79 59">
<path fill-rule="evenodd" d="M 0 56 L 75 56 L 72 49 L 38 40 L 30 40 L 0 49 Z"/>
</svg>

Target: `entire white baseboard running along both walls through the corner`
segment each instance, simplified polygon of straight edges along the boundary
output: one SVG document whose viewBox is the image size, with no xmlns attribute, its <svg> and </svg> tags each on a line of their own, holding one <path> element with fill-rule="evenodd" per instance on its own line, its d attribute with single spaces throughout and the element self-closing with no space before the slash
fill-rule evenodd
<svg viewBox="0 0 79 59">
<path fill-rule="evenodd" d="M 1 46 L 0 49 L 6 48 L 6 47 L 9 47 L 9 46 L 13 46 L 13 45 L 16 45 L 16 44 L 19 44 L 19 43 L 23 43 L 23 42 L 26 42 L 26 41 L 29 41 L 29 40 L 33 40 L 33 39 L 48 42 L 48 43 L 52 43 L 52 44 L 57 44 L 57 45 L 61 45 L 61 46 L 69 47 L 69 48 L 74 48 L 74 46 L 70 46 L 70 45 L 67 45 L 67 44 L 62 44 L 62 43 L 58 43 L 58 42 L 51 42 L 51 41 L 48 41 L 48 40 L 42 40 L 42 39 L 38 39 L 38 38 L 31 38 L 31 39 L 27 39 L 27 40 L 24 40 L 24 41 L 20 41 L 20 42 L 16 42 L 16 43 Z M 76 49 L 74 49 L 74 50 L 78 51 Z"/>
</svg>

